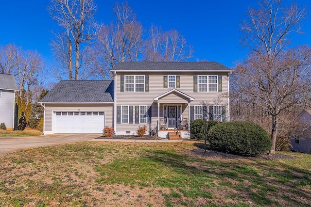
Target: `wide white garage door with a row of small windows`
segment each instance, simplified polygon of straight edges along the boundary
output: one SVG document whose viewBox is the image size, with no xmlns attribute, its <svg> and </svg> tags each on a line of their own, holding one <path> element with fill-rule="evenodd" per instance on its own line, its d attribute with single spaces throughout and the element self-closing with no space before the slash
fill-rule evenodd
<svg viewBox="0 0 311 207">
<path fill-rule="evenodd" d="M 104 111 L 54 111 L 53 133 L 103 133 L 104 117 Z"/>
</svg>

